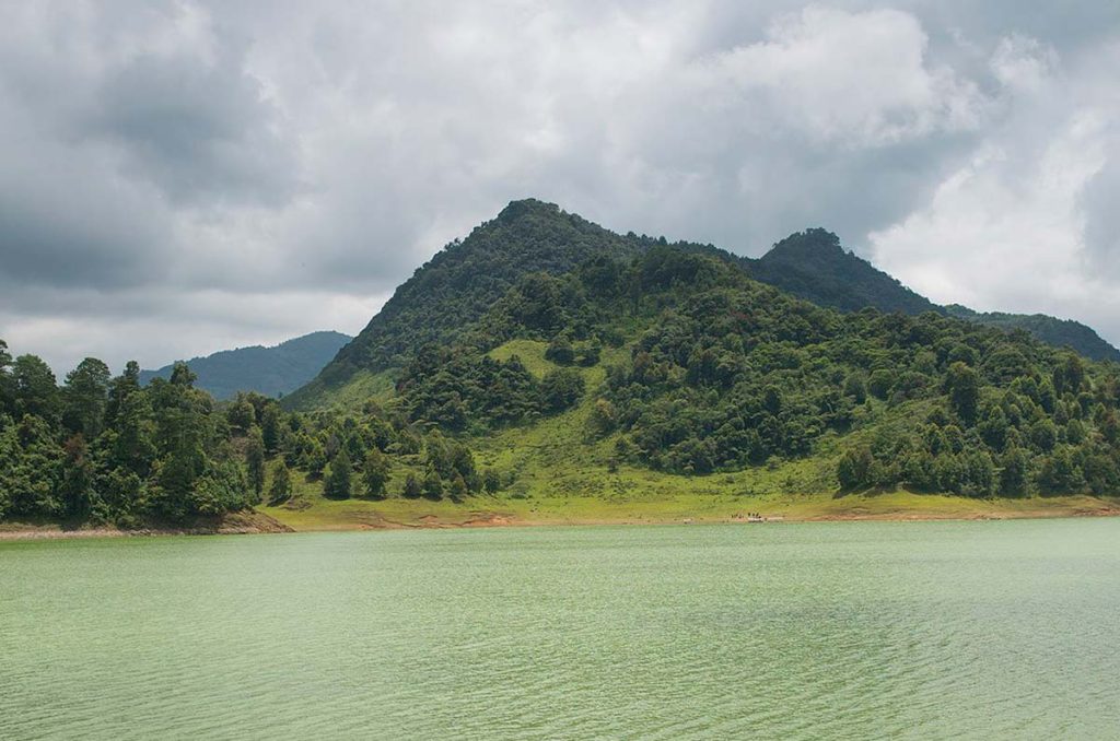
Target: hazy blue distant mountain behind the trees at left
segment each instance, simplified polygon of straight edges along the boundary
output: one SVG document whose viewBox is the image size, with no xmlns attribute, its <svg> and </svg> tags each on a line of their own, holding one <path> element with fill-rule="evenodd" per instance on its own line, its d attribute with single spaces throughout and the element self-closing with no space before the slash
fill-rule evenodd
<svg viewBox="0 0 1120 741">
<path fill-rule="evenodd" d="M 319 331 L 289 339 L 273 347 L 240 347 L 187 362 L 198 376 L 196 385 L 215 398 L 232 398 L 239 391 L 255 391 L 265 396 L 288 394 L 315 377 L 335 354 L 351 340 L 348 335 Z M 170 378 L 174 365 L 158 370 L 141 370 L 140 381 Z"/>
</svg>

